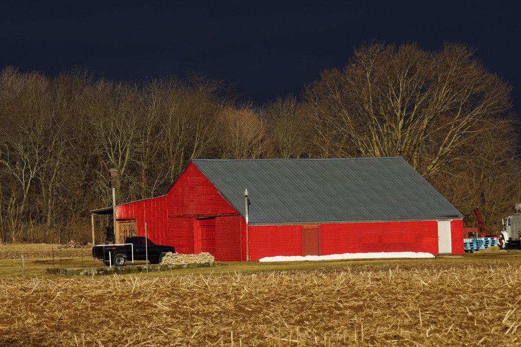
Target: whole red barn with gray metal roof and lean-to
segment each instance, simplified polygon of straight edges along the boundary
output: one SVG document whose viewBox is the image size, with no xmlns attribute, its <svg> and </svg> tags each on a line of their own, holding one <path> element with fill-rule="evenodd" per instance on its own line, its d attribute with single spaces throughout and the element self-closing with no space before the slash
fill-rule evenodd
<svg viewBox="0 0 521 347">
<path fill-rule="evenodd" d="M 115 213 L 116 241 L 146 224 L 154 242 L 217 261 L 464 253 L 462 214 L 401 157 L 195 159 L 166 195 Z"/>
</svg>

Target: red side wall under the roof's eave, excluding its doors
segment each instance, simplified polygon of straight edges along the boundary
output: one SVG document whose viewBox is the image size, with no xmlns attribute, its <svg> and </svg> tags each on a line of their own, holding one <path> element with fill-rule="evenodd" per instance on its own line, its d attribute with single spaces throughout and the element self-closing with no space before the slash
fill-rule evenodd
<svg viewBox="0 0 521 347">
<path fill-rule="evenodd" d="M 453 254 L 463 253 L 463 222 L 451 222 Z M 368 252 L 427 252 L 438 255 L 438 222 L 320 224 L 320 255 Z M 252 261 L 302 255 L 302 225 L 250 226 Z"/>
</svg>

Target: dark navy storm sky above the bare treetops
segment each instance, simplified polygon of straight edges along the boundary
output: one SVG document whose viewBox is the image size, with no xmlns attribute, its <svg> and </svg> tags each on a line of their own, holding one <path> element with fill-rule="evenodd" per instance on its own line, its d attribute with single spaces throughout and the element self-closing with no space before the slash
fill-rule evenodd
<svg viewBox="0 0 521 347">
<path fill-rule="evenodd" d="M 513 86 L 521 113 L 520 6 L 456 3 L 13 2 L 0 11 L 0 67 L 55 75 L 86 66 L 116 80 L 194 71 L 262 103 L 299 94 L 373 39 L 463 42 Z"/>
</svg>

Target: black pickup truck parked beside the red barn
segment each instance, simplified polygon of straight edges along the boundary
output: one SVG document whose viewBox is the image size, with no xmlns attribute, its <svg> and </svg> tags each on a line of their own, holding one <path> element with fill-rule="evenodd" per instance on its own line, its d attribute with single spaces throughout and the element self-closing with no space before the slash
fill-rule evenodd
<svg viewBox="0 0 521 347">
<path fill-rule="evenodd" d="M 123 266 L 127 261 L 146 260 L 147 253 L 151 264 L 159 264 L 168 252 L 176 251 L 170 246 L 155 245 L 143 236 L 127 237 L 121 245 L 101 245 L 92 248 L 93 258 L 101 259 L 107 266 Z"/>
</svg>

